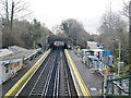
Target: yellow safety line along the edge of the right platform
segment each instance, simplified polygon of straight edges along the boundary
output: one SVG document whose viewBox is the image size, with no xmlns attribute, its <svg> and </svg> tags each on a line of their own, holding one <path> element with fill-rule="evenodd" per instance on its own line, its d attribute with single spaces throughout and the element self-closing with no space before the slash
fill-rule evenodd
<svg viewBox="0 0 131 98">
<path fill-rule="evenodd" d="M 67 52 L 67 56 L 68 56 L 68 58 L 70 60 L 71 66 L 73 69 L 73 72 L 74 72 L 75 77 L 78 79 L 78 83 L 80 85 L 80 88 L 81 88 L 81 90 L 83 93 L 83 96 L 85 96 L 85 97 L 91 96 L 86 85 L 84 84 L 84 82 L 82 82 L 83 79 L 81 78 L 81 75 L 79 74 L 79 71 L 78 71 L 76 66 L 74 65 L 74 62 L 72 61 L 72 59 L 71 59 L 71 57 L 70 57 L 70 54 L 69 54 L 67 49 L 66 49 L 66 52 Z"/>
</svg>

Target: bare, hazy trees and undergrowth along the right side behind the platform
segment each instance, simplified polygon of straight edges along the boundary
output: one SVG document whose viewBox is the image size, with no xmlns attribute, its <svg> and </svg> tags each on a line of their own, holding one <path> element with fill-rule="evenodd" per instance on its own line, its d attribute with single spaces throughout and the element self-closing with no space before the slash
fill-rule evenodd
<svg viewBox="0 0 131 98">
<path fill-rule="evenodd" d="M 123 3 L 121 13 L 112 12 L 110 7 L 103 15 L 97 30 L 100 34 L 95 37 L 95 40 L 104 44 L 106 49 L 112 50 L 115 61 L 119 60 L 120 48 L 120 61 L 124 62 L 121 75 L 131 75 L 131 1 L 129 4 Z M 112 71 L 117 72 L 117 70 L 118 66 L 112 68 Z"/>
</svg>

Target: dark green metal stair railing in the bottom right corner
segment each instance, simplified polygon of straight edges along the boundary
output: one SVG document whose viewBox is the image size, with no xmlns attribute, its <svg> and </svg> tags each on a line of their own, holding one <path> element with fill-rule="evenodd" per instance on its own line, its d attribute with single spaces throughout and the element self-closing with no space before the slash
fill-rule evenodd
<svg viewBox="0 0 131 98">
<path fill-rule="evenodd" d="M 107 81 L 106 94 L 104 94 L 104 82 L 103 82 L 102 95 L 131 97 L 131 76 Z"/>
</svg>

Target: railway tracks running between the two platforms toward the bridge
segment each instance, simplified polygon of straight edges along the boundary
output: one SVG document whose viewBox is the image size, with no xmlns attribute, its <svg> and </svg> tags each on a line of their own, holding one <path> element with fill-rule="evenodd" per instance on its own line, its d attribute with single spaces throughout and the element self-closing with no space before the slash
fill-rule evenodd
<svg viewBox="0 0 131 98">
<path fill-rule="evenodd" d="M 52 49 L 19 96 L 76 96 L 62 47 Z"/>
</svg>

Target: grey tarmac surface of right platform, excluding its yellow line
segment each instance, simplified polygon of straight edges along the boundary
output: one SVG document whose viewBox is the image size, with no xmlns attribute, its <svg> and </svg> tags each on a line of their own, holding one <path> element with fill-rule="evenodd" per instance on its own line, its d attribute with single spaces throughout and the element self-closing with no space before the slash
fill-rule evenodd
<svg viewBox="0 0 131 98">
<path fill-rule="evenodd" d="M 93 72 L 92 69 L 88 69 L 84 63 L 82 63 L 82 58 L 78 57 L 73 50 L 68 50 L 68 52 L 91 96 L 102 96 L 102 82 L 104 81 L 104 77 L 98 72 Z"/>
</svg>

